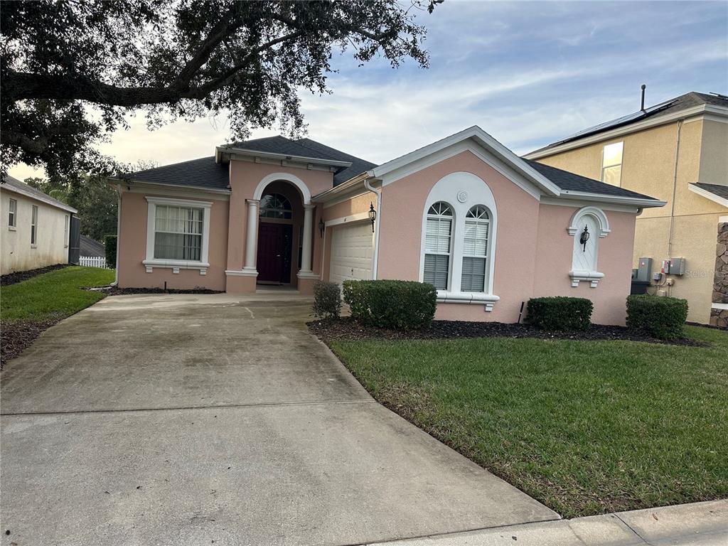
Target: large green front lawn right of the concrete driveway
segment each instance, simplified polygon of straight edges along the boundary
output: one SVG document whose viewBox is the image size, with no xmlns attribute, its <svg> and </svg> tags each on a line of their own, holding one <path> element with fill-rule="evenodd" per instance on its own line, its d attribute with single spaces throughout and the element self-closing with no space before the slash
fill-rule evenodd
<svg viewBox="0 0 728 546">
<path fill-rule="evenodd" d="M 728 333 L 333 341 L 377 400 L 566 517 L 728 496 Z"/>
</svg>

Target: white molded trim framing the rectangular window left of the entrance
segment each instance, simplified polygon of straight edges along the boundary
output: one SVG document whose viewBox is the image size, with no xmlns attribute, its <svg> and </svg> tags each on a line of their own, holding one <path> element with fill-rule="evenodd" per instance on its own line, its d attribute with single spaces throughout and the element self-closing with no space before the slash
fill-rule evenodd
<svg viewBox="0 0 728 546">
<path fill-rule="evenodd" d="M 142 261 L 146 272 L 151 273 L 155 267 L 172 269 L 173 273 L 179 273 L 181 269 L 198 269 L 199 274 L 207 274 L 210 248 L 210 210 L 213 203 L 210 201 L 194 201 L 191 199 L 172 199 L 169 197 L 149 197 L 146 216 L 146 259 Z M 157 205 L 172 207 L 185 207 L 202 210 L 202 242 L 200 243 L 199 260 L 178 260 L 171 258 L 154 257 L 155 226 L 157 219 Z"/>
</svg>

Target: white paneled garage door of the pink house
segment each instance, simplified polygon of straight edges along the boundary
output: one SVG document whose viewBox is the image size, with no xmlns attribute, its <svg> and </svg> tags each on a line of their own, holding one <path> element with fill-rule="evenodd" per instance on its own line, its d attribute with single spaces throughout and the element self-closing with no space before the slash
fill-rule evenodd
<svg viewBox="0 0 728 546">
<path fill-rule="evenodd" d="M 340 224 L 331 236 L 332 282 L 371 279 L 374 237 L 370 222 Z"/>
</svg>

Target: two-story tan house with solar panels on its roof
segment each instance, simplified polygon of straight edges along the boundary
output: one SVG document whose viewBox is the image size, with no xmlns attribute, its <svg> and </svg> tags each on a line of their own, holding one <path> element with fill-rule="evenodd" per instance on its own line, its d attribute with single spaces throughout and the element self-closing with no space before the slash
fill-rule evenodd
<svg viewBox="0 0 728 546">
<path fill-rule="evenodd" d="M 728 97 L 689 92 L 526 158 L 667 202 L 638 216 L 633 267 L 652 258 L 648 293 L 687 299 L 688 320 L 728 325 Z"/>
</svg>

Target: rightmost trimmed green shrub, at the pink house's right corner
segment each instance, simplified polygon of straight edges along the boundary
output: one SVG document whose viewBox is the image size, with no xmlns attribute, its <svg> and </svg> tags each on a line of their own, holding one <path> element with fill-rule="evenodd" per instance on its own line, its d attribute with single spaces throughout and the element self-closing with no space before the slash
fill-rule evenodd
<svg viewBox="0 0 728 546">
<path fill-rule="evenodd" d="M 686 319 L 687 300 L 646 294 L 627 297 L 627 327 L 657 339 L 683 337 Z"/>
</svg>

